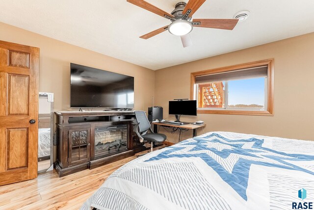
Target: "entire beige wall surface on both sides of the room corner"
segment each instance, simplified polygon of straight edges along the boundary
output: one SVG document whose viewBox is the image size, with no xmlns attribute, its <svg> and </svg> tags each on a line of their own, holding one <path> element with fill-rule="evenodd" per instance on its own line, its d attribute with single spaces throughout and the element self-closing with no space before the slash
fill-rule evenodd
<svg viewBox="0 0 314 210">
<path fill-rule="evenodd" d="M 147 110 L 155 90 L 155 105 L 164 107 L 164 118 L 174 117 L 167 114 L 169 100 L 190 97 L 191 72 L 274 58 L 274 116 L 198 114 L 182 119 L 205 121 L 205 132 L 235 131 L 314 140 L 314 33 L 156 72 L 3 23 L 0 40 L 40 48 L 39 91 L 55 94 L 54 110 L 77 110 L 69 107 L 73 62 L 135 77 L 135 109 Z M 170 141 L 178 141 L 178 134 L 166 134 Z M 181 139 L 191 135 L 191 131 L 185 132 Z"/>
</svg>

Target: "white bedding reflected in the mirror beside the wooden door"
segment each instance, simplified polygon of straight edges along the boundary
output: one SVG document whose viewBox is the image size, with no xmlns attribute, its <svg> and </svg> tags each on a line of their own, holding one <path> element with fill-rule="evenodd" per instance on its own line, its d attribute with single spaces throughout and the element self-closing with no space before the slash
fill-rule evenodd
<svg viewBox="0 0 314 210">
<path fill-rule="evenodd" d="M 38 157 L 50 156 L 50 128 L 38 129 Z"/>
</svg>

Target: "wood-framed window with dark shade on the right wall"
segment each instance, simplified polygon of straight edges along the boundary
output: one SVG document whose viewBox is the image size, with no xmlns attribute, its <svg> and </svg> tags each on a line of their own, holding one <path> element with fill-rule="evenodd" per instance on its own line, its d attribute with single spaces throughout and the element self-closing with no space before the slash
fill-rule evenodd
<svg viewBox="0 0 314 210">
<path fill-rule="evenodd" d="M 191 74 L 198 113 L 272 115 L 273 60 Z"/>
</svg>

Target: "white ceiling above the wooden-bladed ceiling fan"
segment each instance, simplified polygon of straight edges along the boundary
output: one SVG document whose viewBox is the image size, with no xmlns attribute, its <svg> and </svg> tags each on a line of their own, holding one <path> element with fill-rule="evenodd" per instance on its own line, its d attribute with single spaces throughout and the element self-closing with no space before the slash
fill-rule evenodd
<svg viewBox="0 0 314 210">
<path fill-rule="evenodd" d="M 147 1 L 170 13 L 180 0 Z M 138 38 L 171 22 L 126 0 L 0 0 L 0 22 L 153 70 L 314 32 L 314 0 L 207 0 L 193 18 L 241 10 L 232 31 L 195 27 L 187 48 L 168 31 Z"/>
</svg>

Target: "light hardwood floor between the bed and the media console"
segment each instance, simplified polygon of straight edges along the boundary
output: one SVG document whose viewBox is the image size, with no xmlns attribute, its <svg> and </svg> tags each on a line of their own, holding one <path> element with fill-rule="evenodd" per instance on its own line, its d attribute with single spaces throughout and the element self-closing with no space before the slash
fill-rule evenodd
<svg viewBox="0 0 314 210">
<path fill-rule="evenodd" d="M 135 158 L 62 178 L 53 170 L 34 180 L 0 186 L 0 210 L 77 210 L 113 171 Z"/>
</svg>

